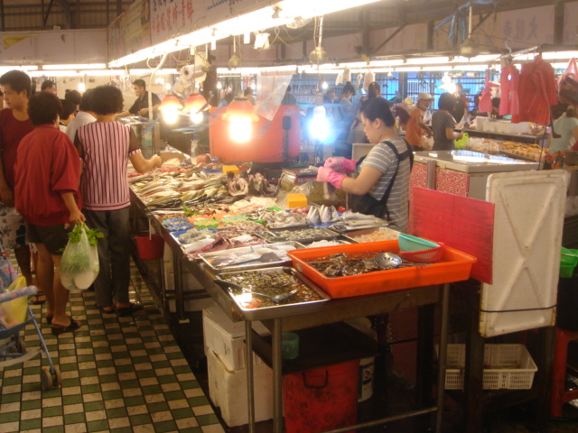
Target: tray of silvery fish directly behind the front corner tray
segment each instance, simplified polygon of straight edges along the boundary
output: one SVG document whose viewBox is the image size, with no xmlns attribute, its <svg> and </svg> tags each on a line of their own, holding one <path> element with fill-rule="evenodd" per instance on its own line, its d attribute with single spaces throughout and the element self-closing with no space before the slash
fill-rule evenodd
<svg viewBox="0 0 578 433">
<path fill-rule="evenodd" d="M 247 271 L 251 269 L 291 264 L 287 252 L 303 248 L 294 241 L 277 244 L 244 246 L 214 253 L 200 253 L 199 257 L 214 272 Z"/>
</svg>

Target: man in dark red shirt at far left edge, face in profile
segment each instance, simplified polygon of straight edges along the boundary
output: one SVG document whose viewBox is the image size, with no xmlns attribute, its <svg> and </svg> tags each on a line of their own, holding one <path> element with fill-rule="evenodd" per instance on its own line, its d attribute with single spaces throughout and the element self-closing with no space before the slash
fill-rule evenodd
<svg viewBox="0 0 578 433">
<path fill-rule="evenodd" d="M 14 249 L 16 261 L 26 279 L 33 284 L 30 248 L 26 244 L 23 217 L 14 208 L 14 163 L 18 143 L 33 130 L 27 113 L 31 94 L 31 80 L 21 70 L 10 70 L 0 77 L 8 108 L 0 111 L 0 233 L 6 250 Z M 40 292 L 39 292 L 40 295 Z M 42 295 L 42 302 L 44 301 Z M 40 300 L 40 297 L 37 298 Z"/>
</svg>

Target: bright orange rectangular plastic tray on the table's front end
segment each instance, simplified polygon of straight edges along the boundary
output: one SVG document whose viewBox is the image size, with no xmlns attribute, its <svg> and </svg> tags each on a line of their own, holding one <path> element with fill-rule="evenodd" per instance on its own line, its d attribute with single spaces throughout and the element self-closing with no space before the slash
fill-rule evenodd
<svg viewBox="0 0 578 433">
<path fill-rule="evenodd" d="M 442 261 L 426 266 L 409 266 L 400 269 L 368 272 L 347 277 L 329 278 L 314 269 L 307 261 L 327 257 L 335 253 L 380 253 L 399 254 L 397 241 L 368 242 L 303 249 L 287 253 L 293 259 L 294 268 L 325 290 L 331 298 L 350 298 L 392 290 L 464 281 L 470 278 L 471 265 L 476 258 L 445 247 Z"/>
</svg>

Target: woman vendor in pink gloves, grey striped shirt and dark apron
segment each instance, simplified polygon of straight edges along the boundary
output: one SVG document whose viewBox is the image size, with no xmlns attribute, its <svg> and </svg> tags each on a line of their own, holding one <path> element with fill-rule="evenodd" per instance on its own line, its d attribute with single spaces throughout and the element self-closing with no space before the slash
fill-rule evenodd
<svg viewBox="0 0 578 433">
<path fill-rule="evenodd" d="M 349 192 L 355 212 L 387 219 L 391 226 L 406 232 L 413 153 L 397 136 L 396 119 L 386 99 L 375 97 L 369 101 L 361 112 L 361 121 L 369 143 L 375 146 L 359 161 L 329 158 L 319 169 L 317 180 Z M 343 173 L 356 176 L 349 178 Z"/>
</svg>

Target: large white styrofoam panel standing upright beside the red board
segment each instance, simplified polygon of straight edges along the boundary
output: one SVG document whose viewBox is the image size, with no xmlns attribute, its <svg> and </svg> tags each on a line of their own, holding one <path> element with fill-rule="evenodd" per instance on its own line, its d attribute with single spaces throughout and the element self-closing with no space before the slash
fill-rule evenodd
<svg viewBox="0 0 578 433">
<path fill-rule="evenodd" d="M 493 283 L 481 285 L 481 336 L 555 324 L 568 179 L 564 170 L 489 176 L 486 199 L 496 205 Z"/>
</svg>

